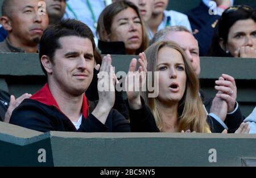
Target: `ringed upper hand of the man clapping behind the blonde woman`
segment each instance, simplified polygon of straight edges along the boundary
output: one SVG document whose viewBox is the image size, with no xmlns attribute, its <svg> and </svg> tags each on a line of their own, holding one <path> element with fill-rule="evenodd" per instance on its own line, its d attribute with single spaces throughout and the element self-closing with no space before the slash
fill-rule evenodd
<svg viewBox="0 0 256 178">
<path fill-rule="evenodd" d="M 237 86 L 234 78 L 230 75 L 222 74 L 215 83 L 217 84 L 215 89 L 218 90 L 216 96 L 226 101 L 228 104 L 228 112 L 234 111 L 237 99 Z"/>
</svg>

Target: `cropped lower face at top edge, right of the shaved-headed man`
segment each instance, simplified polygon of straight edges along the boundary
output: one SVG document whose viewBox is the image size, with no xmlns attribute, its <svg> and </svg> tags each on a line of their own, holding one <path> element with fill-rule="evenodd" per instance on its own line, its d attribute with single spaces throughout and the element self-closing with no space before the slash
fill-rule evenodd
<svg viewBox="0 0 256 178">
<path fill-rule="evenodd" d="M 59 23 L 63 18 L 67 0 L 44 0 L 48 12 L 49 25 Z"/>
</svg>

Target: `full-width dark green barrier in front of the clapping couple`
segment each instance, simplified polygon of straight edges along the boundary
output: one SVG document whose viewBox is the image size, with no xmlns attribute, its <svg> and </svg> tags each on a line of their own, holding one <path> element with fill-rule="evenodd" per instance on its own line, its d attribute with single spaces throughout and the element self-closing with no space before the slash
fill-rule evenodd
<svg viewBox="0 0 256 178">
<path fill-rule="evenodd" d="M 0 166 L 256 166 L 255 147 L 256 134 L 41 134 L 0 122 Z"/>
</svg>

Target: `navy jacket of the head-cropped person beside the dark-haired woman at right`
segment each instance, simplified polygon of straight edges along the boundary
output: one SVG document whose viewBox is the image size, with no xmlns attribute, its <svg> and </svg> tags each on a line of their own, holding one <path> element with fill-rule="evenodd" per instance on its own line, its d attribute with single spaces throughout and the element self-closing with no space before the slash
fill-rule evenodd
<svg viewBox="0 0 256 178">
<path fill-rule="evenodd" d="M 216 22 L 220 16 L 210 15 L 209 8 L 203 2 L 185 14 L 188 16 L 192 31 L 199 30 L 194 36 L 199 42 L 200 56 L 206 56 L 212 43 L 214 31 L 217 30 Z"/>
</svg>

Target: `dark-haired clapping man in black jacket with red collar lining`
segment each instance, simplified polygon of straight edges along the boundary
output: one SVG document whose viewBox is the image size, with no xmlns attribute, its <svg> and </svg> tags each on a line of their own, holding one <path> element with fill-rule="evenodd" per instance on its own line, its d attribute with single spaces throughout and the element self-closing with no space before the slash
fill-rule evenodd
<svg viewBox="0 0 256 178">
<path fill-rule="evenodd" d="M 108 74 L 113 90 L 99 91 L 96 107 L 88 108 L 85 91 L 92 82 L 96 50 L 88 26 L 77 20 L 63 20 L 48 27 L 39 44 L 48 83 L 14 110 L 11 124 L 40 132 L 130 132 L 129 121 L 112 109 L 115 94 L 110 56 L 103 58 L 100 72 Z M 102 81 L 104 78 L 99 76 L 98 83 Z"/>
</svg>

